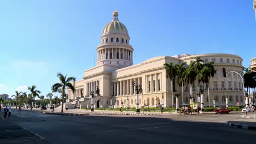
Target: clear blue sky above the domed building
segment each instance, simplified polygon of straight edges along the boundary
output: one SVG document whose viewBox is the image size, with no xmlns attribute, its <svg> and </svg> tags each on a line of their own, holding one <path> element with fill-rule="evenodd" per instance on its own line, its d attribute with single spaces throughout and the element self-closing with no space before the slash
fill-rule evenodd
<svg viewBox="0 0 256 144">
<path fill-rule="evenodd" d="M 57 73 L 82 79 L 114 10 L 134 48 L 133 63 L 183 53 L 232 53 L 248 67 L 256 57 L 253 0 L 1 1 L 0 94 L 42 95 Z"/>
</svg>

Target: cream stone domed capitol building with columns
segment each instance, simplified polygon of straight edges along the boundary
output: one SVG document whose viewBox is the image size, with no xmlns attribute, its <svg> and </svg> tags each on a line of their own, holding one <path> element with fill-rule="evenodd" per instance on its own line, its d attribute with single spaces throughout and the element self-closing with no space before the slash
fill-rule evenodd
<svg viewBox="0 0 256 144">
<path fill-rule="evenodd" d="M 113 39 L 112 39 L 113 38 Z M 164 104 L 166 107 L 176 106 L 176 97 L 182 95 L 182 88 L 176 80 L 173 81 L 173 96 L 171 92 L 171 80 L 166 78 L 164 63 L 189 65 L 200 57 L 205 62 L 214 62 L 217 73 L 211 77 L 204 91 L 205 107 L 213 106 L 213 98 L 216 97 L 216 106 L 225 105 L 225 95 L 228 94 L 229 105 L 236 105 L 239 101 L 244 104 L 242 91 L 242 80 L 236 73 L 222 75 L 222 68 L 226 71 L 236 71 L 242 75 L 244 67 L 242 58 L 237 55 L 225 53 L 210 53 L 202 55 L 176 55 L 153 57 L 142 63 L 133 65 L 133 47 L 129 44 L 130 37 L 123 23 L 118 20 L 117 11 L 113 14 L 112 22 L 109 22 L 103 29 L 101 44 L 97 47 L 96 67 L 85 70 L 82 80 L 73 83 L 75 92 L 67 89 L 69 99 L 81 97 L 81 91 L 85 98 L 90 98 L 91 92 L 100 93 L 96 96 L 103 107 L 109 107 L 110 98 L 113 98 L 115 107 L 135 107 L 136 92 L 132 82 L 142 85 L 142 92 L 139 93 L 139 107 L 148 105 L 156 107 Z M 193 101 L 197 101 L 197 80 L 193 85 Z M 208 99 L 208 87 L 210 88 L 210 100 Z M 179 98 L 179 104 L 184 101 L 189 104 L 189 86 L 184 85 L 184 100 Z M 100 98 L 100 99 L 99 99 Z M 95 101 L 95 103 L 97 103 Z M 123 102 L 123 105 L 121 104 Z"/>
</svg>

